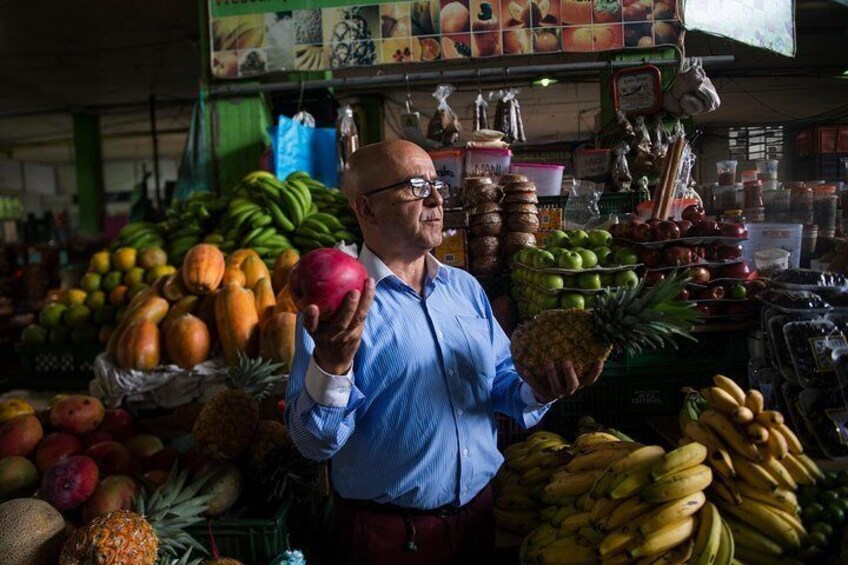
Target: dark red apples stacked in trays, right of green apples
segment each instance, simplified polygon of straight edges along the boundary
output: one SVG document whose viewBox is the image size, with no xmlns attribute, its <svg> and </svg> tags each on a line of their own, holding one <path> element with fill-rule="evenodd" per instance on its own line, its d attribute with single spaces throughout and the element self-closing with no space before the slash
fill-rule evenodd
<svg viewBox="0 0 848 565">
<path fill-rule="evenodd" d="M 645 279 L 654 285 L 669 272 L 686 268 L 691 277 L 681 299 L 694 300 L 707 321 L 750 315 L 746 300 L 762 289 L 750 281 L 751 270 L 742 259 L 747 229 L 742 224 L 704 219 L 698 205 L 683 210 L 677 221 L 632 218 L 611 226 L 616 245 L 635 251 L 645 265 Z"/>
</svg>

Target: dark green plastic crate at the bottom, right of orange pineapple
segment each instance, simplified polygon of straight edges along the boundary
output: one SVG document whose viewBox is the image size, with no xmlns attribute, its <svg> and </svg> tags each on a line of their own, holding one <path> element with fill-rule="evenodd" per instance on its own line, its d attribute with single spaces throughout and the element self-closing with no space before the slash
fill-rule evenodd
<svg viewBox="0 0 848 565">
<path fill-rule="evenodd" d="M 270 563 L 289 549 L 286 518 L 290 507 L 290 502 L 284 502 L 269 518 L 210 520 L 186 531 L 210 553 L 214 539 L 221 555 L 243 563 Z"/>
</svg>

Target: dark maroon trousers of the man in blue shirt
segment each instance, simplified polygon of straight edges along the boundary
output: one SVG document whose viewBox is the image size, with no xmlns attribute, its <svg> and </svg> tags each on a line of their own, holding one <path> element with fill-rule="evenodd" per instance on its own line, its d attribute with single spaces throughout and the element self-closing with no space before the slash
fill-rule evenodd
<svg viewBox="0 0 848 565">
<path fill-rule="evenodd" d="M 340 563 L 440 565 L 491 562 L 495 507 L 491 485 L 465 506 L 432 511 L 336 496 Z"/>
</svg>

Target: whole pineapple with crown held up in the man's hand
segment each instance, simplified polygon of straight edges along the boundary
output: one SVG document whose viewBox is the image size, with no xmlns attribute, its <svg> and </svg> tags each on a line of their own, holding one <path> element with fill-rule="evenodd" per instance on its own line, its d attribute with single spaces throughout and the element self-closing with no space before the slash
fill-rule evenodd
<svg viewBox="0 0 848 565">
<path fill-rule="evenodd" d="M 550 392 L 544 368 L 548 360 L 559 366 L 569 359 L 580 375 L 613 351 L 637 354 L 676 347 L 674 336 L 694 339 L 687 333 L 698 319 L 694 304 L 676 300 L 688 280 L 685 272 L 677 273 L 643 293 L 643 279 L 635 288 L 598 295 L 592 311 L 542 312 L 512 335 L 512 356 L 522 377 L 540 392 Z"/>
</svg>

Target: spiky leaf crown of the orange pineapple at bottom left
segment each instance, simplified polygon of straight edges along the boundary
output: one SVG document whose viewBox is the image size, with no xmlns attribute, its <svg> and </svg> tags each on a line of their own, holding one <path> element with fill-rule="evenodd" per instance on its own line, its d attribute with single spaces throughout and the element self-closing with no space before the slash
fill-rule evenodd
<svg viewBox="0 0 848 565">
<path fill-rule="evenodd" d="M 173 563 L 192 548 L 206 552 L 185 529 L 203 521 L 207 503 L 214 498 L 211 494 L 198 494 L 209 476 L 189 483 L 188 473 L 175 464 L 161 488 L 148 489 L 133 499 L 133 511 L 147 520 L 159 539 L 158 565 Z"/>
</svg>

